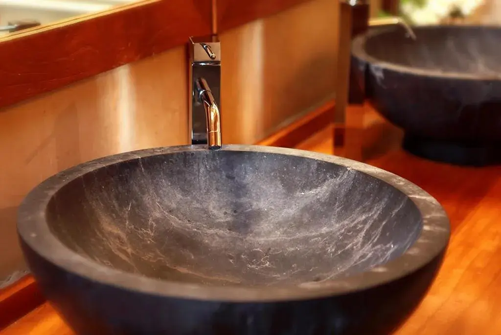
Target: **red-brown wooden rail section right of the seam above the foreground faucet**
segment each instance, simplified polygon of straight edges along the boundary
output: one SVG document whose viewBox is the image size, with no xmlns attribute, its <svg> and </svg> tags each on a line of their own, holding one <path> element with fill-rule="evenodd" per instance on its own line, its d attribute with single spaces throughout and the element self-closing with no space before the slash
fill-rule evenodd
<svg viewBox="0 0 501 335">
<path fill-rule="evenodd" d="M 266 18 L 309 0 L 215 0 L 217 1 L 217 31 L 241 26 Z"/>
</svg>

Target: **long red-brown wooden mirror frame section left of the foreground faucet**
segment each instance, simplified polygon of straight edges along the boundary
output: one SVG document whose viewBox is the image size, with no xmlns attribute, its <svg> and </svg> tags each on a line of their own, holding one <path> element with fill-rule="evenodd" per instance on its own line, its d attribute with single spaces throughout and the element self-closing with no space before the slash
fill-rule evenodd
<svg viewBox="0 0 501 335">
<path fill-rule="evenodd" d="M 16 34 L 0 43 L 0 107 L 211 33 L 211 0 L 157 0 Z"/>
</svg>

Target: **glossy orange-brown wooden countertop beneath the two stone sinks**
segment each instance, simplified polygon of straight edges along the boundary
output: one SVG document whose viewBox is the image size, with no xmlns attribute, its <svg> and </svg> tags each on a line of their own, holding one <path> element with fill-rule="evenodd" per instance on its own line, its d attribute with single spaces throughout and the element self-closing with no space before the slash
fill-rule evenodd
<svg viewBox="0 0 501 335">
<path fill-rule="evenodd" d="M 364 122 L 364 137 L 372 138 L 371 143 L 374 136 L 393 140 L 372 145 L 365 161 L 425 189 L 451 220 L 452 237 L 440 273 L 396 334 L 501 334 L 501 166 L 460 168 L 414 157 L 398 147 L 398 132 L 375 114 Z M 331 129 L 298 148 L 331 153 Z M 74 335 L 48 303 L 0 332 L 18 334 Z"/>
</svg>

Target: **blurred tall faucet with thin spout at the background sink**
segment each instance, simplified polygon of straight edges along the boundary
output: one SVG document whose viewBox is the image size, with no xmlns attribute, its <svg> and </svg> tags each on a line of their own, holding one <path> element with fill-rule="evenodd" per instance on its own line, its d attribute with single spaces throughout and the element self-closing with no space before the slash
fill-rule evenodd
<svg viewBox="0 0 501 335">
<path fill-rule="evenodd" d="M 333 134 L 335 154 L 338 149 L 345 148 L 347 108 L 363 108 L 366 97 L 364 84 L 355 80 L 358 69 L 354 69 L 351 63 L 353 38 L 366 33 L 370 27 L 400 25 L 410 38 L 416 39 L 412 28 L 400 17 L 370 19 L 370 0 L 339 0 L 339 2 L 338 73 Z"/>
</svg>

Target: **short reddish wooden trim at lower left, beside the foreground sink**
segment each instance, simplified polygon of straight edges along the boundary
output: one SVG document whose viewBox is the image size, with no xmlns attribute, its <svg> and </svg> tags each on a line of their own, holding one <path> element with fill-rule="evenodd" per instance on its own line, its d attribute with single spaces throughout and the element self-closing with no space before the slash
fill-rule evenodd
<svg viewBox="0 0 501 335">
<path fill-rule="evenodd" d="M 0 331 L 45 302 L 31 275 L 0 290 Z"/>
</svg>

